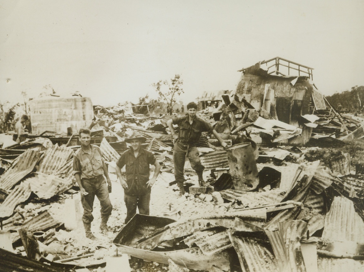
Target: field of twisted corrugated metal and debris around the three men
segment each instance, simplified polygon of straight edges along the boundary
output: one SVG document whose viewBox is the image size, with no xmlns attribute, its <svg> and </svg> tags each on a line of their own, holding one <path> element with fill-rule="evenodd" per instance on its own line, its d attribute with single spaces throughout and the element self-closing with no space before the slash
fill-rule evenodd
<svg viewBox="0 0 364 272">
<path fill-rule="evenodd" d="M 4 271 L 363 271 L 363 120 L 329 110 L 302 116 L 310 127 L 307 138 L 307 127 L 270 119 L 244 98 L 224 102 L 199 116 L 229 148 L 201 135 L 206 184 L 198 184 L 186 161 L 183 196 L 174 181 L 166 126 L 172 116 L 94 107 L 91 139 L 108 165 L 113 205 L 103 234 L 95 199 L 96 241 L 85 236 L 72 176 L 76 134 L 34 135 L 2 148 Z M 124 225 L 115 162 L 133 130 L 147 138 L 143 147 L 162 167 L 150 216 L 137 214 Z M 306 143 L 298 144 L 303 138 Z"/>
</svg>

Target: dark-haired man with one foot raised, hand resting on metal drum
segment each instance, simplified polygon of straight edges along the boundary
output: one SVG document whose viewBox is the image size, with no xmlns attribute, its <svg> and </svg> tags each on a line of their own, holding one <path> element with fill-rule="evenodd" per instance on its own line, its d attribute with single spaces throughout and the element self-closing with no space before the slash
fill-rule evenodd
<svg viewBox="0 0 364 272">
<path fill-rule="evenodd" d="M 173 135 L 174 147 L 173 147 L 173 161 L 174 161 L 174 177 L 179 187 L 179 193 L 185 194 L 183 188 L 183 168 L 185 166 L 186 157 L 190 160 L 191 167 L 196 171 L 198 176 L 198 183 L 201 186 L 205 186 L 205 182 L 202 177 L 203 166 L 198 157 L 198 149 L 196 142 L 199 140 L 203 131 L 214 134 L 216 139 L 220 142 L 223 148 L 227 147 L 227 144 L 221 139 L 220 135 L 213 129 L 213 127 L 196 116 L 197 105 L 194 102 L 187 104 L 187 115 L 183 117 L 175 117 L 167 121 L 169 130 Z M 173 125 L 178 125 L 179 134 L 176 134 Z"/>
</svg>

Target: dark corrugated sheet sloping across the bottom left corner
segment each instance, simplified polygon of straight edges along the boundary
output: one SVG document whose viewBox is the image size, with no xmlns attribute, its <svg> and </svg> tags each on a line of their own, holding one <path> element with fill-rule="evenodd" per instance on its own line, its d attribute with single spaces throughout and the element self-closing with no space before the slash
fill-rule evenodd
<svg viewBox="0 0 364 272">
<path fill-rule="evenodd" d="M 2 271 L 32 271 L 32 272 L 64 272 L 64 269 L 19 256 L 13 252 L 0 248 Z"/>
</svg>

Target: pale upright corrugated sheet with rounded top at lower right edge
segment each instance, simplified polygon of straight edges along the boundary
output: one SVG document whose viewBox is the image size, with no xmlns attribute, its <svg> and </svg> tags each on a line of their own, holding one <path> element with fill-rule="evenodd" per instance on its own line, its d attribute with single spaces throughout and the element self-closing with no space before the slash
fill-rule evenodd
<svg viewBox="0 0 364 272">
<path fill-rule="evenodd" d="M 364 243 L 364 222 L 346 197 L 335 197 L 326 214 L 323 239 Z"/>
</svg>

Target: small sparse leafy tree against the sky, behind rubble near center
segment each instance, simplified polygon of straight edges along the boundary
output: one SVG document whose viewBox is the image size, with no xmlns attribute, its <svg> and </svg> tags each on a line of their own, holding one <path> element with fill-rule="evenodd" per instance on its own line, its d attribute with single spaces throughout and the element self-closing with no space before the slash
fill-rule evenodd
<svg viewBox="0 0 364 272">
<path fill-rule="evenodd" d="M 174 78 L 168 80 L 159 80 L 157 83 L 153 83 L 152 86 L 158 93 L 158 98 L 161 101 L 165 101 L 170 109 L 173 108 L 174 104 L 177 102 L 179 95 L 184 93 L 182 89 L 183 80 L 181 75 L 175 75 Z M 172 113 L 172 111 L 170 111 Z"/>
</svg>

